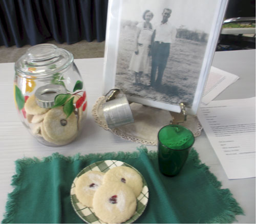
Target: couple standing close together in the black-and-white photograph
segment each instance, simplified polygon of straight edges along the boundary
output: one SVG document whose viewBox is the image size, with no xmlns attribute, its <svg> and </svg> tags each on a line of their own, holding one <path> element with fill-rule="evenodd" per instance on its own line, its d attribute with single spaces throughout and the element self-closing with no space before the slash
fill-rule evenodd
<svg viewBox="0 0 256 224">
<path fill-rule="evenodd" d="M 167 23 L 171 9 L 163 10 L 163 19 L 155 29 L 150 23 L 154 14 L 150 10 L 143 13 L 142 23 L 137 25 L 135 51 L 132 55 L 129 70 L 134 73 L 135 85 L 141 85 L 142 74 L 151 74 L 150 86 L 160 87 L 162 76 L 169 57 L 170 44 L 176 37 L 176 28 Z M 152 65 L 150 73 L 150 56 Z M 158 76 L 156 79 L 156 72 Z"/>
</svg>

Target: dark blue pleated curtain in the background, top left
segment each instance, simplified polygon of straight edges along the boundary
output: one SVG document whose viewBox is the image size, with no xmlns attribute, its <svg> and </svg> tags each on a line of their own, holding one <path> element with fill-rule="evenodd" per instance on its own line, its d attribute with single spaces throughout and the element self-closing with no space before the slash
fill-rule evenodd
<svg viewBox="0 0 256 224">
<path fill-rule="evenodd" d="M 0 0 L 0 46 L 105 39 L 108 0 Z"/>
</svg>

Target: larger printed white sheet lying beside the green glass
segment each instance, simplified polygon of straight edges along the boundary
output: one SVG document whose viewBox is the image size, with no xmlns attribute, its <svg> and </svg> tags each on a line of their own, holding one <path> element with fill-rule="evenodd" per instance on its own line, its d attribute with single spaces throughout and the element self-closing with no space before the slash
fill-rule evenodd
<svg viewBox="0 0 256 224">
<path fill-rule="evenodd" d="M 255 97 L 201 104 L 198 119 L 228 178 L 255 177 Z"/>
</svg>

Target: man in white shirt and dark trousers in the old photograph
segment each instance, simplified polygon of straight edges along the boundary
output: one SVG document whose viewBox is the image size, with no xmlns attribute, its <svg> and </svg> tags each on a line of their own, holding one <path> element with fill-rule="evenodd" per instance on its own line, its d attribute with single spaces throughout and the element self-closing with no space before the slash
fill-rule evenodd
<svg viewBox="0 0 256 224">
<path fill-rule="evenodd" d="M 171 9 L 163 10 L 163 19 L 161 24 L 156 26 L 152 36 L 152 70 L 151 70 L 151 86 L 158 88 L 161 86 L 164 69 L 169 57 L 170 45 L 175 41 L 177 30 L 168 21 Z M 158 75 L 156 79 L 156 72 Z"/>
</svg>

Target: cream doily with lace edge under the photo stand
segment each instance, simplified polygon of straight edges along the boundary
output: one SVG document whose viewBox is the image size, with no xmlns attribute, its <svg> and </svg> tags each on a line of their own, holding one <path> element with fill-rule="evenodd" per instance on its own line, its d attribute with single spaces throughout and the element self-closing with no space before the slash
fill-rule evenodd
<svg viewBox="0 0 256 224">
<path fill-rule="evenodd" d="M 103 115 L 102 103 L 105 103 L 105 96 L 100 97 L 93 106 L 92 115 L 95 122 L 122 139 L 144 145 L 157 145 L 157 133 L 161 127 L 168 125 L 172 120 L 184 120 L 181 114 L 170 114 L 168 110 L 131 103 L 134 123 L 110 129 Z M 190 129 L 195 137 L 201 134 L 202 126 L 196 116 L 188 115 L 187 120 L 180 125 Z"/>
</svg>

